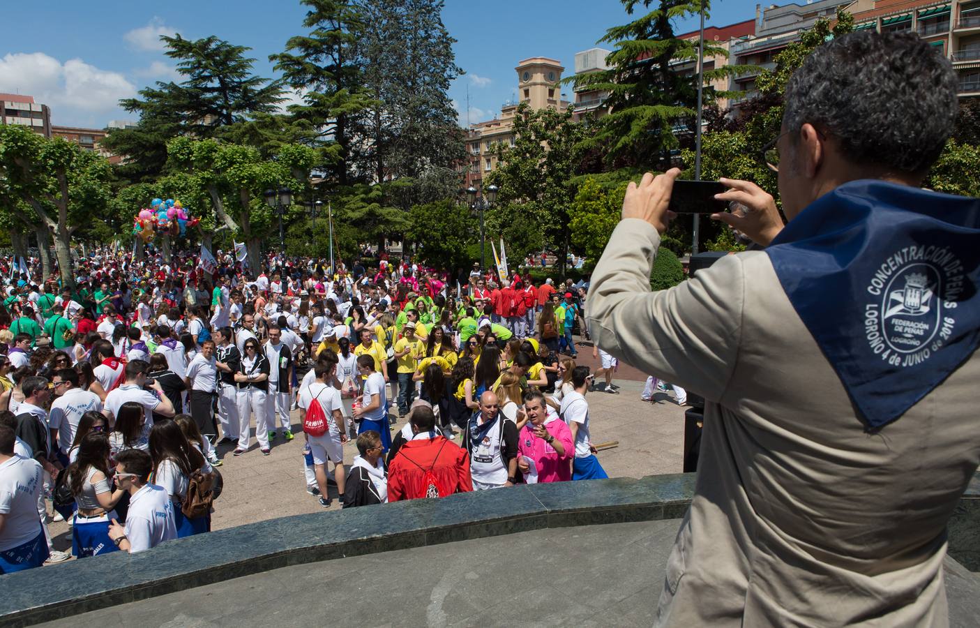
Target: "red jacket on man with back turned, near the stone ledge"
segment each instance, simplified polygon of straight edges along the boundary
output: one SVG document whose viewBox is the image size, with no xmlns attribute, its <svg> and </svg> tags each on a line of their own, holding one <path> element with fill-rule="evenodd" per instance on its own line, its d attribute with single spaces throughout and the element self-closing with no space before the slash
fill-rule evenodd
<svg viewBox="0 0 980 628">
<path fill-rule="evenodd" d="M 414 499 L 429 469 L 443 489 L 439 497 L 473 490 L 466 451 L 446 437 L 436 436 L 409 441 L 395 454 L 388 467 L 388 502 Z"/>
</svg>

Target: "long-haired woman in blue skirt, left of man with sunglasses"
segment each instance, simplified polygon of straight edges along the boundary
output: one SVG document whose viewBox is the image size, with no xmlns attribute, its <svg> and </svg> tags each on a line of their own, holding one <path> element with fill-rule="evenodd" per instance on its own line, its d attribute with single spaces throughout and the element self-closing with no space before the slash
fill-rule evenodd
<svg viewBox="0 0 980 628">
<path fill-rule="evenodd" d="M 86 434 L 79 442 L 77 458 L 65 473 L 77 507 L 72 526 L 73 555 L 84 558 L 118 551 L 109 538 L 109 525 L 117 517 L 113 508 L 125 491 L 111 488 L 106 435 Z"/>
</svg>

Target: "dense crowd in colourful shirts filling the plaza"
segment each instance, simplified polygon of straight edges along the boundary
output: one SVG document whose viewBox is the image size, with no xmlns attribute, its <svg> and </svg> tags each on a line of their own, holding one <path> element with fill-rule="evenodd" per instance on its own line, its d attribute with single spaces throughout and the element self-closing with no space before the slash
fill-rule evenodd
<svg viewBox="0 0 980 628">
<path fill-rule="evenodd" d="M 49 519 L 71 524 L 78 558 L 206 532 L 220 452 L 270 456 L 300 437 L 323 507 L 330 480 L 342 507 L 362 507 L 606 477 L 589 435 L 594 378 L 572 340 L 587 335 L 586 290 L 571 280 L 476 265 L 450 276 L 383 255 L 330 269 L 272 254 L 252 276 L 221 253 L 206 271 L 96 249 L 67 286 L 33 260 L 11 264 L 0 573 L 71 557 Z M 600 353 L 600 390 L 617 394 Z"/>
</svg>

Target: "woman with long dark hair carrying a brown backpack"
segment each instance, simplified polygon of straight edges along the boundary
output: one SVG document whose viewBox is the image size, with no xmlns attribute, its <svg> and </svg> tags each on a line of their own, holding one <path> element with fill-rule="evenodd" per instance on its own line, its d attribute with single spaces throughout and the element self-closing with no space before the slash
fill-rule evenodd
<svg viewBox="0 0 980 628">
<path fill-rule="evenodd" d="M 163 487 L 173 502 L 177 538 L 210 532 L 210 514 L 192 519 L 180 510 L 187 499 L 190 476 L 201 470 L 207 460 L 191 447 L 175 421 L 156 423 L 150 429 L 150 458 L 153 459 L 153 483 Z"/>
</svg>

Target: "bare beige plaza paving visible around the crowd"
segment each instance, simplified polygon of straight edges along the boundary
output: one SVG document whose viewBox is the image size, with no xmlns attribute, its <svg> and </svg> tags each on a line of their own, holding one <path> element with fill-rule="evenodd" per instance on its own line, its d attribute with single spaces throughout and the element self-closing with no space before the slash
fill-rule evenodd
<svg viewBox="0 0 980 628">
<path fill-rule="evenodd" d="M 578 363 L 587 364 L 595 371 L 599 364 L 592 359 L 591 346 L 578 349 Z M 620 386 L 620 394 L 596 391 L 587 396 L 593 443 L 618 441 L 618 446 L 598 454 L 610 477 L 638 478 L 681 472 L 686 409 L 677 406 L 672 392 L 657 394 L 654 403 L 641 401 L 645 379 L 636 369 L 620 366 L 613 380 Z M 270 456 L 259 452 L 254 439 L 249 452 L 238 458 L 231 456 L 231 448 L 219 448 L 219 457 L 224 461 L 219 467 L 224 492 L 215 505 L 212 529 L 323 509 L 306 492 L 299 411 L 293 411 L 292 422 L 296 438 L 288 443 L 277 439 Z M 402 424 L 399 422 L 392 429 Z M 344 461 L 349 464 L 356 454 L 353 441 L 348 442 L 344 446 Z M 339 508 L 332 485 L 330 494 L 330 508 Z M 72 537 L 68 524 L 50 523 L 49 529 L 55 537 L 55 548 L 70 551 Z"/>
</svg>

